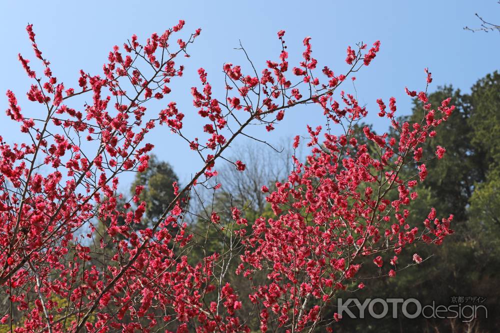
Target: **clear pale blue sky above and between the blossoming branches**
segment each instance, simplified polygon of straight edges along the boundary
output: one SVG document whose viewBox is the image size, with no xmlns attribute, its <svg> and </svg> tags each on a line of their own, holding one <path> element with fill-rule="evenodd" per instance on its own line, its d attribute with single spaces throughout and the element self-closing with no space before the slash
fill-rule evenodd
<svg viewBox="0 0 500 333">
<path fill-rule="evenodd" d="M 162 32 L 184 19 L 185 32 L 202 28 L 190 48 L 185 76 L 176 81 L 178 85 L 172 85 L 172 96 L 186 114 L 187 124 L 197 118 L 189 91 L 190 86 L 198 84 L 197 68 L 204 67 L 215 91 L 220 91 L 222 64 L 243 62 L 241 54 L 233 49 L 239 39 L 262 69 L 266 59 L 277 58 L 280 44 L 276 31 L 284 29 L 290 64 L 296 63 L 303 51 L 303 37 L 311 36 L 313 56 L 320 68 L 328 65 L 335 72 L 346 68 L 343 59 L 347 45 L 361 40 L 381 41 L 372 64 L 356 74 L 358 98 L 371 113 L 367 121 L 380 131 L 386 123 L 377 122 L 374 116 L 375 100 L 394 96 L 397 113 L 408 113 L 410 99 L 404 87 L 423 89 L 424 67 L 434 77 L 431 91 L 450 83 L 468 91 L 478 78 L 500 67 L 500 34 L 462 29 L 465 25 L 479 25 L 475 12 L 500 22 L 500 4 L 495 0 L 5 1 L 0 14 L 0 91 L 2 96 L 7 89 L 16 92 L 24 110 L 35 107 L 24 97 L 29 81 L 17 61 L 18 52 L 34 58 L 24 30 L 28 22 L 34 24 L 37 43 L 52 62 L 54 74 L 66 86 L 73 86 L 77 85 L 80 68 L 100 73 L 113 45 L 122 45 L 133 33 L 144 40 L 152 32 Z M 344 88 L 353 92 L 352 86 Z M 0 103 L 5 109 L 6 98 Z M 317 107 L 289 112 L 272 135 L 277 141 L 283 136 L 304 134 L 306 123 L 323 123 L 321 113 Z M 194 136 L 199 122 L 193 124 L 187 130 Z M 1 116 L 0 135 L 7 142 L 18 140 L 17 124 Z M 198 169 L 198 161 L 193 163 L 194 156 L 166 129 L 155 129 L 148 141 L 155 144 L 154 152 L 161 159 L 173 165 L 181 180 Z M 127 179 L 131 178 L 124 181 Z"/>
</svg>

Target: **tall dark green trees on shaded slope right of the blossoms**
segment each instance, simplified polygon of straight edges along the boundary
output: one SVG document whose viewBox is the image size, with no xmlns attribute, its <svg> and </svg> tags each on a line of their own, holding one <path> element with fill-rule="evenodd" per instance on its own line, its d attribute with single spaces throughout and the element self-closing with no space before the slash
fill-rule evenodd
<svg viewBox="0 0 500 333">
<path fill-rule="evenodd" d="M 414 246 L 406 249 L 422 258 L 420 265 L 398 271 L 389 279 L 362 280 L 366 287 L 339 297 L 415 298 L 422 305 L 451 305 L 451 297 L 485 297 L 488 319 L 479 316 L 471 323 L 452 319 L 381 320 L 342 319 L 333 325 L 334 332 L 500 332 L 497 318 L 500 308 L 500 74 L 494 72 L 480 79 L 471 94 L 462 94 L 451 86 L 429 94 L 433 106 L 451 97 L 456 109 L 437 136 L 424 146 L 423 156 L 432 156 L 436 145 L 446 148 L 440 161 L 426 163 L 428 176 L 418 188 L 418 200 L 411 203 L 409 219 L 423 221 L 429 207 L 439 216 L 454 214 L 455 234 L 441 246 Z M 412 113 L 401 121 L 420 122 L 422 105 L 415 103 Z M 412 174 L 411 168 L 404 170 Z M 404 256 L 401 255 L 400 258 Z M 398 262 L 398 269 L 407 262 Z M 378 268 L 366 262 L 365 276 L 376 276 Z M 388 268 L 387 268 L 388 269 Z M 371 272 L 369 272 L 371 270 Z M 385 272 L 382 272 L 385 274 Z M 360 282 L 360 281 L 358 281 Z M 358 283 L 356 282 L 356 283 Z M 390 310 L 390 309 L 389 309 Z M 330 309 L 331 313 L 335 308 Z M 400 307 L 399 307 L 400 314 Z"/>
</svg>

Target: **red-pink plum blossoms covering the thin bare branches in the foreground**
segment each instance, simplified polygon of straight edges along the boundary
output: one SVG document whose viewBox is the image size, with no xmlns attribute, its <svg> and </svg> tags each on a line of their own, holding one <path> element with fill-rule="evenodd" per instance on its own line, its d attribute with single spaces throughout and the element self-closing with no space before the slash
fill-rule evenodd
<svg viewBox="0 0 500 333">
<path fill-rule="evenodd" d="M 394 277 L 407 245 L 440 244 L 453 232 L 452 216 L 438 219 L 434 209 L 420 225 L 407 222 L 415 188 L 427 175 L 422 161 L 432 158 L 422 156 L 421 145 L 450 116 L 449 99 L 433 109 L 425 92 L 406 89 L 424 104 L 421 123 L 399 123 L 395 99 L 388 110 L 377 100 L 378 115 L 394 135 L 356 131 L 366 108 L 344 91 L 334 99 L 347 76 L 370 65 L 379 41 L 349 46 L 347 70 L 335 73 L 317 69 L 310 37 L 303 40 L 302 60 L 289 64 L 281 30 L 281 51 L 260 72 L 251 62 L 247 73 L 242 65 L 223 65 L 223 98 L 214 97 L 199 68 L 201 86 L 192 87 L 191 95 L 203 123 L 191 138 L 182 131 L 186 117 L 174 101 L 159 111 L 149 106 L 168 97 L 184 71 L 182 56 L 188 57 L 200 34 L 197 29 L 182 39 L 183 26 L 180 20 L 145 43 L 133 35 L 112 48 L 101 75 L 80 70 L 77 87 L 52 73 L 27 26 L 42 74 L 20 54 L 19 61 L 33 81 L 27 97 L 43 117 L 24 114 L 7 91 L 6 114 L 28 140 L 8 144 L 0 137 L 0 293 L 9 303 L 1 325 L 16 333 L 311 332 L 338 320 L 326 318 L 325 309 L 356 281 L 362 258 L 372 257 Z M 80 95 L 89 101 L 78 105 Z M 207 247 L 193 261 L 186 207 L 196 187 L 209 187 L 220 160 L 244 172 L 244 161 L 225 157 L 231 142 L 249 136 L 251 125 L 271 132 L 286 112 L 306 104 L 318 105 L 327 124 L 341 123 L 344 133 L 333 135 L 329 125 L 307 127 L 306 160 L 293 157 L 287 179 L 272 190 L 261 188 L 269 193 L 274 217 L 249 221 L 242 207 L 233 207 L 230 221 L 223 221 L 220 212 L 210 211 L 206 234 L 216 230 L 226 250 Z M 119 203 L 118 176 L 148 167 L 153 146 L 144 140 L 155 126 L 184 139 L 200 168 L 185 186 L 172 184 L 175 198 L 162 216 L 137 230 L 147 219 L 146 203 L 139 200 L 143 186 Z M 294 148 L 300 140 L 294 139 Z M 444 153 L 436 147 L 435 158 Z M 400 171 L 408 164 L 416 164 L 417 173 L 405 179 Z M 418 254 L 412 260 L 422 262 Z M 235 279 L 251 292 L 241 295 Z"/>
</svg>

